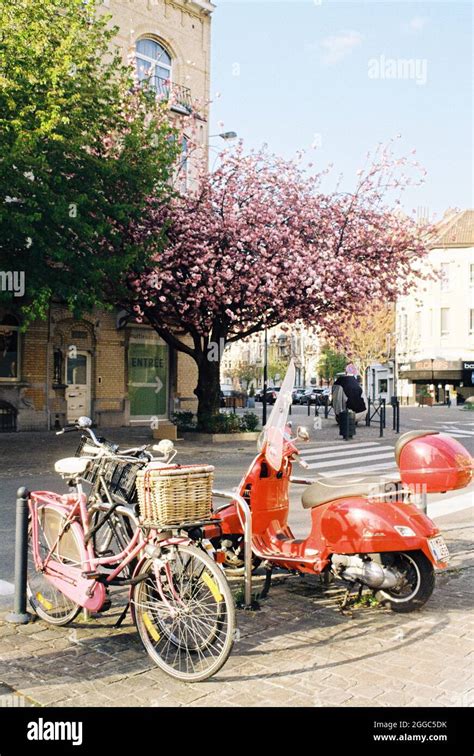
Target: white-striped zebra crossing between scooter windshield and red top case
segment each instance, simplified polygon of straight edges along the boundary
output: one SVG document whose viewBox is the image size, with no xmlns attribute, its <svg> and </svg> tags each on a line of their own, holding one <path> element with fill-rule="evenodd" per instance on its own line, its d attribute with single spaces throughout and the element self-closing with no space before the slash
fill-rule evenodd
<svg viewBox="0 0 474 756">
<path fill-rule="evenodd" d="M 397 468 L 393 446 L 378 441 L 358 441 L 345 448 L 341 444 L 300 447 L 309 470 L 322 477 L 352 474 L 393 473 Z"/>
</svg>

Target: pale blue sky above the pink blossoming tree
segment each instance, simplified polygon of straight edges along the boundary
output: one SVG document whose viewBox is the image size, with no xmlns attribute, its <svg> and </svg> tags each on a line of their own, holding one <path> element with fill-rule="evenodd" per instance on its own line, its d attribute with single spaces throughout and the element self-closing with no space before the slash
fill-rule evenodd
<svg viewBox="0 0 474 756">
<path fill-rule="evenodd" d="M 353 186 L 368 150 L 396 140 L 427 170 L 403 206 L 473 207 L 472 4 L 214 0 L 211 134 L 236 131 Z M 212 155 L 223 146 L 211 139 Z M 232 147 L 229 147 L 232 149 Z M 331 188 L 330 184 L 327 188 Z"/>
</svg>

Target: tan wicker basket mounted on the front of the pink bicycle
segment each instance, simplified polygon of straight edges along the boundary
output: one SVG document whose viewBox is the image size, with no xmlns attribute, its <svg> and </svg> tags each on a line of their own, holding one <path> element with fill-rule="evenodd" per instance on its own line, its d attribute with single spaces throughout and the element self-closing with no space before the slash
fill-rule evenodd
<svg viewBox="0 0 474 756">
<path fill-rule="evenodd" d="M 211 465 L 149 466 L 140 470 L 136 484 L 144 524 L 168 527 L 208 519 L 213 479 Z"/>
</svg>

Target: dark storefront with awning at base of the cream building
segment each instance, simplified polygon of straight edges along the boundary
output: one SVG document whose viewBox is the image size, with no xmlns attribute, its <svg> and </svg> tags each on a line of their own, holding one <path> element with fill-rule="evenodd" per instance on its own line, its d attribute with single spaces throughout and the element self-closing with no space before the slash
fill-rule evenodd
<svg viewBox="0 0 474 756">
<path fill-rule="evenodd" d="M 474 361 L 430 358 L 409 362 L 399 367 L 402 392 L 417 403 L 445 404 L 463 402 L 474 393 Z"/>
</svg>

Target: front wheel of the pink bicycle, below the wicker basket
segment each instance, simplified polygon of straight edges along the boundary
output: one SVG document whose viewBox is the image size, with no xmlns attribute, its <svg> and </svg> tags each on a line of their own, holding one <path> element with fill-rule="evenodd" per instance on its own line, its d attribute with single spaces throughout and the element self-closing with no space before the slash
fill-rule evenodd
<svg viewBox="0 0 474 756">
<path fill-rule="evenodd" d="M 227 661 L 235 609 L 223 572 L 191 545 L 165 549 L 147 560 L 132 594 L 135 623 L 155 664 L 188 682 L 207 680 Z"/>
</svg>

